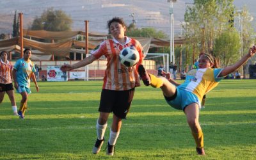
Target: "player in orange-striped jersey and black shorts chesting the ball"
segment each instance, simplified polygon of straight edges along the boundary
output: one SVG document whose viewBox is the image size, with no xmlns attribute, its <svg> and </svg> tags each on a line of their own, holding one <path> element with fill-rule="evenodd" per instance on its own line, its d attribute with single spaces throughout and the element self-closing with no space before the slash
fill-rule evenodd
<svg viewBox="0 0 256 160">
<path fill-rule="evenodd" d="M 102 92 L 100 97 L 99 118 L 97 120 L 97 140 L 93 147 L 93 154 L 98 154 L 104 143 L 104 134 L 108 125 L 109 113 L 113 112 L 113 122 L 111 126 L 110 136 L 106 154 L 113 156 L 114 146 L 119 136 L 122 126 L 122 119 L 126 118 L 134 95 L 134 88 L 140 86 L 140 78 L 138 76 L 138 65 L 143 61 L 143 48 L 140 42 L 133 38 L 125 36 L 126 26 L 124 20 L 114 17 L 108 21 L 109 33 L 113 35 L 113 39 L 104 40 L 100 43 L 91 56 L 74 65 L 63 65 L 61 70 L 68 71 L 80 68 L 99 59 L 101 56 L 107 58 L 107 68 L 103 79 Z M 140 60 L 136 66 L 125 67 L 120 63 L 119 54 L 124 47 L 135 47 L 139 54 Z"/>
</svg>

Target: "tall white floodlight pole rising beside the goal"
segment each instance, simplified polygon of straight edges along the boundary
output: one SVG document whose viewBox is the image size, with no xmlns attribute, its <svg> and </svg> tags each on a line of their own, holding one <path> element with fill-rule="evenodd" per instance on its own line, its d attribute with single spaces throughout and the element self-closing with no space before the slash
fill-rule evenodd
<svg viewBox="0 0 256 160">
<path fill-rule="evenodd" d="M 173 17 L 173 3 L 177 0 L 167 0 L 170 3 L 170 24 L 171 24 L 171 32 L 170 32 L 170 62 L 175 63 L 175 53 L 174 53 L 174 17 Z"/>
</svg>

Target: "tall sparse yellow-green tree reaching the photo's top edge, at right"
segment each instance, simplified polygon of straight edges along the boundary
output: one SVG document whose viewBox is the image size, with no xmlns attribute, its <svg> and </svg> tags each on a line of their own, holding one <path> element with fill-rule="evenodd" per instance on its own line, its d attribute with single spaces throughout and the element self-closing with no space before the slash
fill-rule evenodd
<svg viewBox="0 0 256 160">
<path fill-rule="evenodd" d="M 230 28 L 234 0 L 195 0 L 184 15 L 186 36 L 201 51 L 211 52 L 214 39 Z"/>
</svg>

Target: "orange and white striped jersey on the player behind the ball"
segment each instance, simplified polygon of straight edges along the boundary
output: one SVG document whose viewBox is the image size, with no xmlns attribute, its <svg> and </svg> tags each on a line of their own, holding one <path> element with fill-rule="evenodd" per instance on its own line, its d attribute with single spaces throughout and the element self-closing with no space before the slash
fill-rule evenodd
<svg viewBox="0 0 256 160">
<path fill-rule="evenodd" d="M 124 47 L 133 45 L 140 54 L 140 61 L 136 66 L 125 67 L 120 63 L 119 54 Z M 143 61 L 143 47 L 138 40 L 134 40 L 126 36 L 125 44 L 120 44 L 115 38 L 113 40 L 104 40 L 99 47 L 91 52 L 95 58 L 99 59 L 102 55 L 107 58 L 107 68 L 104 75 L 104 83 L 102 88 L 106 90 L 130 90 L 136 86 L 140 86 L 140 78 L 138 76 L 138 65 Z"/>
</svg>

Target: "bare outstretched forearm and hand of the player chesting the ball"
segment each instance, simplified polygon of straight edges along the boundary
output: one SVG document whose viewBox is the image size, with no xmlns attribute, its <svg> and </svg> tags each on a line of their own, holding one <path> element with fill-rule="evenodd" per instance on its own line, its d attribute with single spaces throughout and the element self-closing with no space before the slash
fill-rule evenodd
<svg viewBox="0 0 256 160">
<path fill-rule="evenodd" d="M 74 65 L 68 65 L 68 64 L 62 65 L 60 70 L 62 70 L 62 71 L 74 70 L 76 68 L 80 68 L 80 67 L 89 65 L 90 63 L 92 63 L 95 60 L 96 60 L 95 56 L 91 55 L 91 56 L 88 56 L 88 58 L 84 58 L 84 60 L 75 63 Z"/>
</svg>

